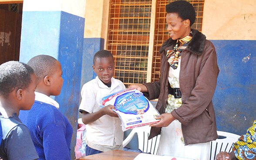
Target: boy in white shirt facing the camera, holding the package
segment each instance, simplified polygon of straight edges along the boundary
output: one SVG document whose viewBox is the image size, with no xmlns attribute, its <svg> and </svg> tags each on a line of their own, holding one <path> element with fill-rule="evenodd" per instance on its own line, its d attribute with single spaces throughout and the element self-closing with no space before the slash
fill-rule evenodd
<svg viewBox="0 0 256 160">
<path fill-rule="evenodd" d="M 121 120 L 111 110 L 115 107 L 99 106 L 102 97 L 125 89 L 125 85 L 120 80 L 113 78 L 115 70 L 113 55 L 107 50 L 98 51 L 94 55 L 92 68 L 97 77 L 82 87 L 82 101 L 79 107 L 87 130 L 85 149 L 87 156 L 123 148 Z"/>
</svg>

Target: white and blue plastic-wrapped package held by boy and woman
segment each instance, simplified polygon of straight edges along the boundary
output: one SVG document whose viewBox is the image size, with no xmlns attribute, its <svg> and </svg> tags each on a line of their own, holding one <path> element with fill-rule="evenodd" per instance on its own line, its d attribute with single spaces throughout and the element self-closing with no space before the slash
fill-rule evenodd
<svg viewBox="0 0 256 160">
<path fill-rule="evenodd" d="M 136 89 L 122 90 L 102 98 L 101 106 L 115 106 L 115 112 L 122 121 L 122 130 L 158 123 L 159 116 L 152 103 Z"/>
</svg>

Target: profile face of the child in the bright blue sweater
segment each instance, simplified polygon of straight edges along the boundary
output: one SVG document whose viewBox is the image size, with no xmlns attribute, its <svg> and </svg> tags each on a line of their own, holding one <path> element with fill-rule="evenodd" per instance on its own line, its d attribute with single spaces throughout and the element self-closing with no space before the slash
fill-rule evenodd
<svg viewBox="0 0 256 160">
<path fill-rule="evenodd" d="M 51 93 L 52 96 L 61 94 L 61 88 L 63 85 L 61 63 L 56 61 L 55 71 L 51 77 Z"/>
</svg>

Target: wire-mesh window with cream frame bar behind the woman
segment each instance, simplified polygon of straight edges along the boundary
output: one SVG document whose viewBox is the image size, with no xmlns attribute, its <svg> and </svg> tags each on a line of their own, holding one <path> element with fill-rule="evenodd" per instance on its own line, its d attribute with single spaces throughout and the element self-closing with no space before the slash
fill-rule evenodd
<svg viewBox="0 0 256 160">
<path fill-rule="evenodd" d="M 165 5 L 174 0 L 110 0 L 107 50 L 115 59 L 115 78 L 125 83 L 159 79 L 162 43 L 168 39 Z M 192 28 L 202 30 L 204 0 L 187 0 L 195 8 Z"/>
</svg>

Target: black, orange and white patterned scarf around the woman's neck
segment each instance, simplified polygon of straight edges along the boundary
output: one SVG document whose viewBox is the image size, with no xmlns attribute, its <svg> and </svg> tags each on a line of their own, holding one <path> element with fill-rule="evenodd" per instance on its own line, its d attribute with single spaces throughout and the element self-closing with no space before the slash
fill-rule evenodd
<svg viewBox="0 0 256 160">
<path fill-rule="evenodd" d="M 189 45 L 189 41 L 192 39 L 193 33 L 192 31 L 189 33 L 189 35 L 187 35 L 186 37 L 182 38 L 182 39 L 178 39 L 176 42 L 175 47 L 173 48 L 173 50 L 167 50 L 167 61 L 168 63 L 171 65 L 171 67 L 175 70 L 178 67 L 178 63 L 179 60 L 178 58 L 181 58 L 181 53 L 183 50 L 185 50 L 187 48 L 187 46 Z M 178 44 L 181 43 L 182 46 L 179 47 L 178 49 Z"/>
</svg>

